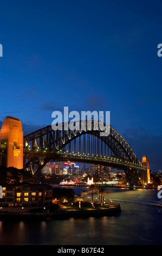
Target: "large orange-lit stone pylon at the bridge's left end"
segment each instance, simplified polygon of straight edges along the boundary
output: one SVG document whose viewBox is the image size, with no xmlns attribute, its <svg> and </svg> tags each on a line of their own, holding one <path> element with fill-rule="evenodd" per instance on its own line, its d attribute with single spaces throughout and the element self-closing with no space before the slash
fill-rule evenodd
<svg viewBox="0 0 162 256">
<path fill-rule="evenodd" d="M 3 120 L 0 147 L 4 149 L 3 166 L 23 169 L 23 130 L 18 118 L 8 116 Z"/>
</svg>

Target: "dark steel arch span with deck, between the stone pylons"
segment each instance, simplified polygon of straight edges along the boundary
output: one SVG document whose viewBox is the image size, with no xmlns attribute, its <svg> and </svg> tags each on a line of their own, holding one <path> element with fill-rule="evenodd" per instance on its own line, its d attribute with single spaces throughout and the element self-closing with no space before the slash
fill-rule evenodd
<svg viewBox="0 0 162 256">
<path fill-rule="evenodd" d="M 69 123 L 63 123 L 61 124 L 62 130 L 54 131 L 51 126 L 47 126 L 24 136 L 25 166 L 30 166 L 31 172 L 35 174 L 49 161 L 72 160 L 76 162 L 102 164 L 123 169 L 129 184 L 140 186 L 141 174 L 145 172 L 145 167 L 141 166 L 132 148 L 112 126 L 109 128 L 109 134 L 107 136 L 100 136 L 101 129 L 99 123 L 100 121 L 89 122 L 86 120 L 83 121 L 84 125 L 82 126 L 82 121 L 78 121 L 75 123 L 76 129 L 74 131 L 69 129 Z M 98 127 L 98 130 L 96 130 L 96 127 Z M 82 153 L 81 138 L 83 138 Z M 76 139 L 79 139 L 79 142 L 77 142 L 77 148 L 79 148 L 77 154 Z M 72 142 L 74 142 L 74 154 L 70 150 L 70 144 Z M 67 145 L 69 146 L 68 150 L 66 150 Z M 104 146 L 105 154 L 103 152 Z M 111 154 L 107 157 L 106 147 Z"/>
</svg>

